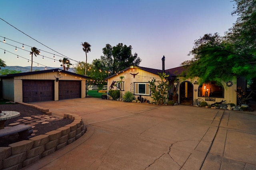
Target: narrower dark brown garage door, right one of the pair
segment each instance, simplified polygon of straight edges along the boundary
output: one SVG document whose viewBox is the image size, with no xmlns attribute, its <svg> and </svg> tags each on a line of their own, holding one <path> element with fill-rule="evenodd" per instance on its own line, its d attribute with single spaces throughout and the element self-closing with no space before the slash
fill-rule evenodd
<svg viewBox="0 0 256 170">
<path fill-rule="evenodd" d="M 81 81 L 59 81 L 59 100 L 81 98 Z"/>
</svg>

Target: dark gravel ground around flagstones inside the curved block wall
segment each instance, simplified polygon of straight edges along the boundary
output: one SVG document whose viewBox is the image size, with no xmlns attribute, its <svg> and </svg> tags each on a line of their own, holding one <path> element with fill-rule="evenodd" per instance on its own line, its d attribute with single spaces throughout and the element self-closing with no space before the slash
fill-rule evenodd
<svg viewBox="0 0 256 170">
<path fill-rule="evenodd" d="M 39 111 L 33 107 L 30 106 L 25 106 L 22 104 L 3 104 L 0 105 L 0 110 L 10 110 L 10 111 L 18 111 L 20 112 L 20 116 L 8 119 L 5 123 L 4 126 L 8 126 L 10 123 L 13 123 L 14 121 L 21 119 L 22 117 L 29 117 L 31 115 L 43 115 L 44 113 L 42 111 Z M 59 120 L 54 120 L 50 121 L 48 124 L 37 124 L 33 128 L 33 130 L 37 130 L 35 132 L 34 136 L 37 135 L 42 135 L 47 132 L 50 132 L 52 130 L 56 130 L 60 127 L 63 127 L 65 125 L 68 125 L 72 122 L 72 119 L 59 119 Z M 33 137 L 34 137 L 33 136 Z M 32 137 L 32 136 L 30 136 Z M 18 134 L 14 135 L 9 135 L 6 137 L 0 137 L 0 147 L 8 147 L 9 144 L 18 142 Z"/>
</svg>

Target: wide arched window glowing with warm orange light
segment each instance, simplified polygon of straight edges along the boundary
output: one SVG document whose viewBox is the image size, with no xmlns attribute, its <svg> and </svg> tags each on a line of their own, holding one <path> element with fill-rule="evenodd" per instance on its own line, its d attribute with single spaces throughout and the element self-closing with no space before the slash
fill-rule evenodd
<svg viewBox="0 0 256 170">
<path fill-rule="evenodd" d="M 198 88 L 199 97 L 224 98 L 224 88 L 216 81 L 203 83 Z"/>
</svg>

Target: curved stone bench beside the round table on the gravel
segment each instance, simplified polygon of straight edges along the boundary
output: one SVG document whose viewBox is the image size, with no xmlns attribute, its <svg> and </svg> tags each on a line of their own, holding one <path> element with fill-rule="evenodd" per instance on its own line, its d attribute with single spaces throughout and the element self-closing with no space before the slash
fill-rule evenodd
<svg viewBox="0 0 256 170">
<path fill-rule="evenodd" d="M 4 129 L 0 129 L 0 137 L 6 136 L 6 135 L 12 135 L 14 133 L 18 133 L 20 140 L 28 140 L 28 136 L 31 135 L 33 132 L 31 126 L 27 125 L 16 125 L 12 127 L 7 127 Z"/>
</svg>

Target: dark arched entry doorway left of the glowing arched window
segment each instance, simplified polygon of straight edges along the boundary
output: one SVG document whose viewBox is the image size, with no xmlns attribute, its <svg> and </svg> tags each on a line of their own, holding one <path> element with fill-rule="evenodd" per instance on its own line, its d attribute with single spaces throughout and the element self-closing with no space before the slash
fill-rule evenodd
<svg viewBox="0 0 256 170">
<path fill-rule="evenodd" d="M 193 104 L 193 84 L 189 81 L 184 81 L 180 84 L 180 104 Z"/>
</svg>

